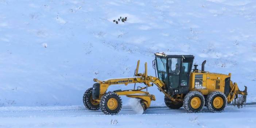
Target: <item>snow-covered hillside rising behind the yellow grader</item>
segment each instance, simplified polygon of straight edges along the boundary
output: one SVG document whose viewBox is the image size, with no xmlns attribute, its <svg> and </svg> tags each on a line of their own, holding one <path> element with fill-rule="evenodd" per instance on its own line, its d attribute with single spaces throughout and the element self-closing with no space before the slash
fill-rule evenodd
<svg viewBox="0 0 256 128">
<path fill-rule="evenodd" d="M 206 59 L 256 102 L 255 10 L 254 0 L 0 0 L 0 106 L 82 105 L 93 78 L 133 76 L 138 59 L 154 75 L 159 51 Z"/>
</svg>

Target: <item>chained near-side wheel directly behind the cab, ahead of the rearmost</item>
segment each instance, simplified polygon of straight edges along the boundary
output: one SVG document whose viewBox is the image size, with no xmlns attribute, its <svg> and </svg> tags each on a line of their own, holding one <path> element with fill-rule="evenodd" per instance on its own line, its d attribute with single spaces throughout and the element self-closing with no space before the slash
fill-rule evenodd
<svg viewBox="0 0 256 128">
<path fill-rule="evenodd" d="M 201 112 L 205 106 L 205 97 L 198 91 L 191 91 L 186 94 L 183 106 L 188 113 Z"/>
</svg>

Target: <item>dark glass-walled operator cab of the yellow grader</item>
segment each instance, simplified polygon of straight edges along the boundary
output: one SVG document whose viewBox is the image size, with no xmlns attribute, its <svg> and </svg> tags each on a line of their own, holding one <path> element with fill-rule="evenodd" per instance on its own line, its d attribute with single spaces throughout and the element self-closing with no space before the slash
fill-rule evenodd
<svg viewBox="0 0 256 128">
<path fill-rule="evenodd" d="M 166 85 L 166 91 L 169 94 L 188 93 L 194 56 L 160 53 L 156 53 L 155 56 L 157 76 Z"/>
</svg>

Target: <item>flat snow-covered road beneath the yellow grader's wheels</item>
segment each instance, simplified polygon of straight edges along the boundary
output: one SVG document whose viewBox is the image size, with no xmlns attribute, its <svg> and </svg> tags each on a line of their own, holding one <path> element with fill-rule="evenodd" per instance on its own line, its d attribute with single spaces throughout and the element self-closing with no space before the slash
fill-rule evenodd
<svg viewBox="0 0 256 128">
<path fill-rule="evenodd" d="M 118 115 L 104 115 L 83 106 L 0 107 L 0 128 L 255 128 L 256 105 L 227 106 L 222 113 L 186 113 L 181 108 L 151 107 L 136 114 L 124 106 Z"/>
</svg>

